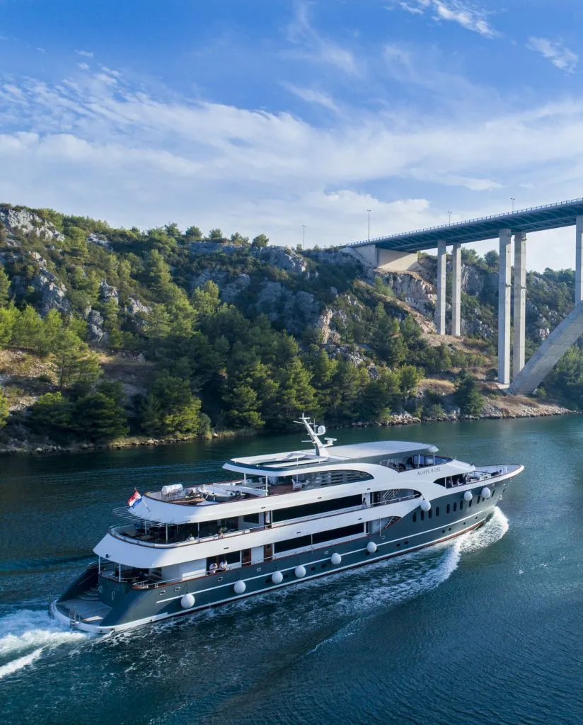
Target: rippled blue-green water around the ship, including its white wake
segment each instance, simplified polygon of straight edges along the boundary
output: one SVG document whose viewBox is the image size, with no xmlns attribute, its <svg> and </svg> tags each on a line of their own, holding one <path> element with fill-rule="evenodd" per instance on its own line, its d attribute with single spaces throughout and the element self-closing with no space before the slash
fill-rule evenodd
<svg viewBox="0 0 583 725">
<path fill-rule="evenodd" d="M 333 431 L 331 434 L 334 435 Z M 339 431 L 524 463 L 454 542 L 96 639 L 46 615 L 133 487 L 223 478 L 303 435 L 0 459 L 0 713 L 38 724 L 577 724 L 583 418 Z"/>
</svg>

